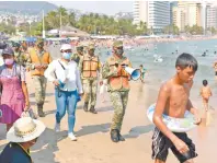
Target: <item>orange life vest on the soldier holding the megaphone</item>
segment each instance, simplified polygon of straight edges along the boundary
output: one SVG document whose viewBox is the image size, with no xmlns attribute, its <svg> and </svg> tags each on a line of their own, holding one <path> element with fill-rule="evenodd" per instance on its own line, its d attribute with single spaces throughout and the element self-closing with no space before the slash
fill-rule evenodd
<svg viewBox="0 0 217 163">
<path fill-rule="evenodd" d="M 110 71 L 114 71 L 116 69 L 115 63 L 117 63 L 118 61 L 116 60 L 115 57 L 112 56 L 111 58 L 108 58 L 107 62 L 110 66 Z M 129 66 L 128 58 L 126 58 L 122 62 L 118 62 L 118 65 Z M 117 91 L 121 89 L 129 90 L 128 79 L 129 79 L 129 74 L 124 69 L 122 69 L 122 71 L 118 72 L 116 77 L 110 78 L 108 83 L 110 83 L 112 91 Z"/>
</svg>

